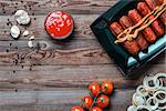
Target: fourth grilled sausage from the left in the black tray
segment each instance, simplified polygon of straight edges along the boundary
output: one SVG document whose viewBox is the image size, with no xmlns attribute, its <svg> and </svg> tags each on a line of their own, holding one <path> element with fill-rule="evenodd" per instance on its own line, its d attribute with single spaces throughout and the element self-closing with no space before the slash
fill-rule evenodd
<svg viewBox="0 0 166 111">
<path fill-rule="evenodd" d="M 137 10 L 142 13 L 142 16 L 146 16 L 146 14 L 151 13 L 151 11 L 152 11 L 145 2 L 139 2 L 137 4 Z M 151 16 L 149 20 L 152 20 L 154 18 L 155 18 L 155 16 Z M 157 36 L 163 36 L 164 34 L 164 26 L 159 20 L 155 20 L 152 23 L 152 27 L 153 27 L 153 29 L 154 29 L 154 31 L 156 32 Z"/>
</svg>

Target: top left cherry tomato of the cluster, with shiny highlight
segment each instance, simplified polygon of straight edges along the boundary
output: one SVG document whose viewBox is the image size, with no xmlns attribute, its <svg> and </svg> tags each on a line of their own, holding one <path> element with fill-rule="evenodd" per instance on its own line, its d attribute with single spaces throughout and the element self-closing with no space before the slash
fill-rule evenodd
<svg viewBox="0 0 166 111">
<path fill-rule="evenodd" d="M 91 94 L 93 97 L 97 95 L 101 91 L 101 87 L 97 82 L 92 82 L 90 85 L 89 85 L 89 90 L 91 91 Z"/>
</svg>

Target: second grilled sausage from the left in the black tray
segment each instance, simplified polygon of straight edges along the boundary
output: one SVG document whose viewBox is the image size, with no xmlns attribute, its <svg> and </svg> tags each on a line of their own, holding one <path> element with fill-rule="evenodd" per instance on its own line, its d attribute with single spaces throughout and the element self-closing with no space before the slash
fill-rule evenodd
<svg viewBox="0 0 166 111">
<path fill-rule="evenodd" d="M 127 17 L 127 16 L 123 16 L 120 19 L 120 23 L 124 29 L 127 29 L 132 26 L 134 26 L 134 23 L 132 22 L 132 20 Z M 145 50 L 148 47 L 147 41 L 143 38 L 142 33 L 138 34 L 138 37 L 135 39 L 135 41 L 137 42 L 138 47 L 141 48 L 141 50 Z"/>
</svg>

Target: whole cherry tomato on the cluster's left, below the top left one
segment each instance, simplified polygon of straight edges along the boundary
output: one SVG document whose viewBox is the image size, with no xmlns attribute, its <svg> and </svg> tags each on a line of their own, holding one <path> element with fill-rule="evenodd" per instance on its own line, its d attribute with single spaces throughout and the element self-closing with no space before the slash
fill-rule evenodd
<svg viewBox="0 0 166 111">
<path fill-rule="evenodd" d="M 85 109 L 90 109 L 92 103 L 93 103 L 93 99 L 90 95 L 85 95 L 82 99 L 82 107 Z"/>
</svg>

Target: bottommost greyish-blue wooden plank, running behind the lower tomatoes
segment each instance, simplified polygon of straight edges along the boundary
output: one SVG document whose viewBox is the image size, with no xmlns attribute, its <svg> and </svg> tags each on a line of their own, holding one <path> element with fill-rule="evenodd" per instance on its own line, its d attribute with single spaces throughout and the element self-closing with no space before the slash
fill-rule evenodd
<svg viewBox="0 0 166 111">
<path fill-rule="evenodd" d="M 112 105 L 105 111 L 124 111 L 131 104 L 134 90 L 117 90 L 111 97 Z M 2 111 L 69 111 L 79 105 L 87 90 L 0 92 Z M 65 107 L 64 107 L 65 105 Z"/>
</svg>

